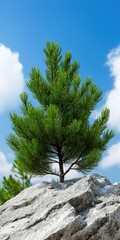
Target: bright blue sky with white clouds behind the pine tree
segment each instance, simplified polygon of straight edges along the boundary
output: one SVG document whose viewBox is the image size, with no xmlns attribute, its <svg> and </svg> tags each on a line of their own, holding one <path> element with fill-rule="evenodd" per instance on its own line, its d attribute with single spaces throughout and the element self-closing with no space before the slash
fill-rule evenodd
<svg viewBox="0 0 120 240">
<path fill-rule="evenodd" d="M 11 132 L 9 113 L 19 111 L 19 94 L 31 67 L 44 73 L 47 40 L 58 42 L 63 54 L 71 51 L 82 79 L 91 76 L 103 90 L 94 116 L 109 107 L 109 126 L 116 135 L 92 173 L 120 181 L 119 12 L 119 0 L 0 0 L 0 181 L 14 159 L 5 140 Z"/>
</svg>

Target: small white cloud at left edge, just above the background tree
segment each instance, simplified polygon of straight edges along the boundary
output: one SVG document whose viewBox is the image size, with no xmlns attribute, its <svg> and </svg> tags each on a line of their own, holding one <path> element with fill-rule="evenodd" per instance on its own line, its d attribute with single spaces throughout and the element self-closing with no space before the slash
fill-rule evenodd
<svg viewBox="0 0 120 240">
<path fill-rule="evenodd" d="M 7 161 L 4 153 L 0 152 L 0 178 L 11 173 L 12 164 Z"/>
</svg>

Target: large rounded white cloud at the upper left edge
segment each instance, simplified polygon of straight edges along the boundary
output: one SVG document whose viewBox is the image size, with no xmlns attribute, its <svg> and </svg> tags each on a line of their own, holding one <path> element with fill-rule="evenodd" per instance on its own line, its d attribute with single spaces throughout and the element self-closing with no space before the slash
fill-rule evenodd
<svg viewBox="0 0 120 240">
<path fill-rule="evenodd" d="M 19 54 L 0 44 L 0 112 L 18 105 L 19 95 L 24 89 L 22 69 Z"/>
</svg>

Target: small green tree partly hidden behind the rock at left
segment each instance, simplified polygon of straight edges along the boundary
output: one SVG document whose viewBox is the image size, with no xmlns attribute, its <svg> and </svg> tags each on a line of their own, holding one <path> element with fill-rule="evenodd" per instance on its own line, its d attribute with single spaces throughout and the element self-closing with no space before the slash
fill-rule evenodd
<svg viewBox="0 0 120 240">
<path fill-rule="evenodd" d="M 18 193 L 31 186 L 31 176 L 26 174 L 23 166 L 15 160 L 12 167 L 14 177 L 3 177 L 2 187 L 0 188 L 0 205 L 15 197 Z"/>
</svg>

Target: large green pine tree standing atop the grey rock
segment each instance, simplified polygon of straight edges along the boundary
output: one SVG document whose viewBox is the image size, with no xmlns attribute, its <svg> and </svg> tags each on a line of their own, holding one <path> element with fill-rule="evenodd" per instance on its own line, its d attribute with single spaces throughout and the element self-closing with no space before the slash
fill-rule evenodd
<svg viewBox="0 0 120 240">
<path fill-rule="evenodd" d="M 32 68 L 27 83 L 38 105 L 26 92 L 21 94 L 21 114 L 10 114 L 14 134 L 7 142 L 26 171 L 53 174 L 64 182 L 70 170 L 86 173 L 98 165 L 113 131 L 107 128 L 108 109 L 91 123 L 102 91 L 89 77 L 81 83 L 79 63 L 72 62 L 72 54 L 62 57 L 54 42 L 47 42 L 44 53 L 45 77 Z"/>
</svg>

